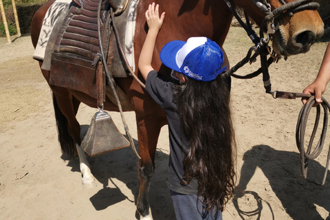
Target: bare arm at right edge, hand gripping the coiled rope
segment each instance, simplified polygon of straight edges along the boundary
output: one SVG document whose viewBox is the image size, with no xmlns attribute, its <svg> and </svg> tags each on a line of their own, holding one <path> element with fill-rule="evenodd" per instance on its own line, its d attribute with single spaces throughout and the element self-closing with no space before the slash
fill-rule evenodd
<svg viewBox="0 0 330 220">
<path fill-rule="evenodd" d="M 303 93 L 304 94 L 313 94 L 316 98 L 316 102 L 322 102 L 322 94 L 327 89 L 327 84 L 330 81 L 330 43 L 328 44 L 327 50 L 325 51 L 325 57 L 323 58 L 320 71 L 318 76 L 311 85 L 307 86 Z M 307 102 L 306 99 L 303 99 L 303 103 Z"/>
</svg>

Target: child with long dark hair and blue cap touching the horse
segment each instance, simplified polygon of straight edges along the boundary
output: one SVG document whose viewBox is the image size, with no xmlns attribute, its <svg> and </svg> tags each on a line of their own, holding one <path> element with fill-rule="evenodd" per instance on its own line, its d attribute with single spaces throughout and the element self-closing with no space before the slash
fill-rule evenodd
<svg viewBox="0 0 330 220">
<path fill-rule="evenodd" d="M 194 37 L 166 44 L 160 58 L 173 69 L 173 80 L 151 66 L 157 34 L 164 21 L 159 5 L 146 11 L 148 34 L 139 69 L 146 92 L 164 109 L 168 120 L 170 161 L 167 185 L 177 219 L 222 219 L 234 190 L 234 133 L 230 120 L 230 81 L 217 43 Z M 225 61 L 227 61 L 225 59 Z"/>
</svg>

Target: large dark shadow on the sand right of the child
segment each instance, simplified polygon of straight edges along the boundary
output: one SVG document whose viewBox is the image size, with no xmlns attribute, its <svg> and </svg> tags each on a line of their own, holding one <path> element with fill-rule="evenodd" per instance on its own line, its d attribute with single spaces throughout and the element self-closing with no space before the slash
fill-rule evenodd
<svg viewBox="0 0 330 220">
<path fill-rule="evenodd" d="M 271 201 L 263 200 L 257 192 L 246 190 L 257 167 L 261 168 L 276 197 L 292 219 L 323 219 L 316 205 L 330 211 L 330 188 L 327 187 L 330 178 L 328 175 L 325 186 L 321 186 L 325 167 L 318 162 L 309 161 L 307 179 L 303 179 L 300 176 L 299 153 L 276 151 L 267 145 L 257 145 L 243 155 L 243 160 L 241 177 L 233 199 L 234 207 L 241 219 L 250 219 L 251 215 L 258 215 L 257 219 L 261 219 L 261 211 L 265 203 L 272 212 L 272 218 L 269 219 L 276 219 Z M 244 193 L 257 201 L 256 210 L 244 212 L 239 208 L 239 200 L 243 198 Z"/>
</svg>

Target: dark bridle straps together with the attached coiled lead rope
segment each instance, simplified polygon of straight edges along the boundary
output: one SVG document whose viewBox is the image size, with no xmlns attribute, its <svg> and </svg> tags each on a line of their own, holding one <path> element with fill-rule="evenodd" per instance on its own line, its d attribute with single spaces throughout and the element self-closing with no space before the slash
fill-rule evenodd
<svg viewBox="0 0 330 220">
<path fill-rule="evenodd" d="M 276 20 L 282 19 L 285 16 L 292 17 L 295 13 L 303 11 L 303 10 L 318 10 L 320 5 L 316 2 L 312 2 L 311 0 L 296 0 L 292 1 L 290 3 L 285 3 L 284 0 L 278 0 L 283 5 L 279 8 L 276 8 L 275 10 L 271 11 L 271 6 L 269 3 L 269 0 L 252 0 L 258 8 L 267 14 L 265 16 L 265 19 L 263 19 L 263 22 L 261 23 L 260 27 L 260 33 L 259 36 L 252 30 L 252 26 L 250 24 L 250 21 L 248 19 L 248 16 L 246 12 L 244 12 L 246 24 L 241 20 L 239 15 L 236 13 L 236 10 L 234 10 L 234 7 L 232 7 L 230 0 L 224 0 L 234 17 L 239 21 L 241 26 L 245 29 L 248 36 L 254 43 L 254 46 L 250 47 L 250 50 L 248 51 L 248 54 L 243 58 L 242 61 L 234 65 L 228 72 L 225 72 L 223 77 L 233 76 L 234 78 L 241 78 L 241 79 L 248 79 L 248 78 L 254 78 L 256 76 L 259 76 L 259 74 L 263 73 L 263 83 L 265 87 L 265 92 L 267 94 L 272 94 L 273 98 L 285 98 L 285 99 L 295 99 L 295 98 L 308 98 L 306 104 L 304 104 L 303 108 L 300 110 L 299 116 L 298 116 L 298 122 L 296 125 L 296 145 L 298 148 L 298 151 L 300 152 L 300 170 L 301 174 L 304 179 L 307 178 L 307 168 L 309 164 L 309 159 L 315 159 L 320 155 L 323 145 L 325 143 L 325 137 L 327 133 L 327 125 L 328 125 L 328 113 L 330 109 L 330 104 L 325 100 L 325 98 L 322 98 L 322 103 L 318 104 L 316 107 L 316 120 L 314 123 L 314 129 L 311 133 L 311 137 L 309 139 L 309 144 L 307 146 L 307 151 L 305 151 L 304 141 L 305 141 L 305 131 L 306 131 L 306 125 L 307 125 L 307 119 L 309 112 L 311 108 L 316 103 L 315 97 L 311 96 L 310 94 L 300 94 L 300 93 L 291 93 L 286 91 L 272 91 L 271 87 L 272 84 L 270 83 L 270 74 L 268 72 L 268 67 L 274 63 L 274 61 L 278 61 L 278 59 L 281 58 L 281 56 L 276 54 L 270 53 L 270 46 L 268 46 L 268 43 L 271 39 L 271 34 L 274 34 L 276 32 L 276 25 L 278 25 L 278 22 Z M 277 23 L 277 24 L 276 24 Z M 264 30 L 266 30 L 267 38 L 264 38 Z M 252 52 L 254 52 L 252 56 Z M 267 59 L 267 55 L 270 54 L 270 58 Z M 256 70 L 256 72 L 253 72 L 252 74 L 248 74 L 245 76 L 239 76 L 234 74 L 234 72 L 237 71 L 237 69 L 243 67 L 246 63 L 250 62 L 250 64 L 254 61 L 256 61 L 256 57 L 261 56 L 261 68 Z M 287 57 L 285 57 L 286 60 Z M 314 142 L 314 137 L 316 135 L 316 131 L 318 129 L 318 123 L 320 121 L 320 105 L 322 105 L 324 110 L 324 118 L 323 118 L 323 126 L 322 126 L 322 132 L 320 135 L 320 140 L 318 140 L 318 144 L 314 148 L 314 151 L 311 151 L 312 144 Z M 322 180 L 322 186 L 325 185 L 325 180 L 327 178 L 328 168 L 329 168 L 329 162 L 330 162 L 330 146 L 329 151 L 327 155 L 327 165 L 325 169 L 325 175 Z"/>
</svg>

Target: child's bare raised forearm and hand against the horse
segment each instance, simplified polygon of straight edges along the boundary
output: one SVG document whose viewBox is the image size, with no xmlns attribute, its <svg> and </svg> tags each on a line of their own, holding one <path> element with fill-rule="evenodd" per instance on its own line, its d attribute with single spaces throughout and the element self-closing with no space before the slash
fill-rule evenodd
<svg viewBox="0 0 330 220">
<path fill-rule="evenodd" d="M 165 12 L 162 13 L 159 18 L 159 5 L 155 5 L 152 3 L 149 5 L 148 10 L 146 10 L 146 22 L 148 23 L 148 34 L 146 34 L 146 40 L 144 41 L 144 45 L 141 50 L 140 58 L 139 58 L 139 69 L 140 72 L 146 80 L 146 76 L 148 73 L 153 70 L 151 66 L 151 61 L 153 58 L 153 50 L 155 48 L 157 34 L 162 28 L 162 24 L 164 21 Z"/>
</svg>

